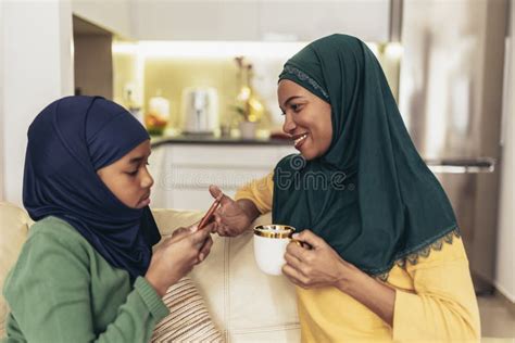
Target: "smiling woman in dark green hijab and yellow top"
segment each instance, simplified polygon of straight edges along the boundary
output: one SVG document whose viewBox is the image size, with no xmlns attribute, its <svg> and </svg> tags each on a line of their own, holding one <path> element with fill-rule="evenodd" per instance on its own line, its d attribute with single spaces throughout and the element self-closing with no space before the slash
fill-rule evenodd
<svg viewBox="0 0 515 343">
<path fill-rule="evenodd" d="M 269 211 L 298 229 L 311 249 L 290 243 L 282 272 L 298 285 L 302 340 L 477 340 L 452 207 L 366 45 L 312 42 L 285 64 L 278 99 L 300 154 L 225 196 L 216 230 L 237 236 Z"/>
</svg>

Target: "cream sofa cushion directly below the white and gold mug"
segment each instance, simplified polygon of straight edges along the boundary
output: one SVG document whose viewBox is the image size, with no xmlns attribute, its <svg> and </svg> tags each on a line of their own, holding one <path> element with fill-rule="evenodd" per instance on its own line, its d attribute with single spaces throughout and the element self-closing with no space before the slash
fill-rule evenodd
<svg viewBox="0 0 515 343">
<path fill-rule="evenodd" d="M 272 223 L 259 217 L 255 225 Z M 294 287 L 285 276 L 263 274 L 254 261 L 253 232 L 230 239 L 229 320 L 231 338 L 238 341 L 300 341 Z"/>
</svg>

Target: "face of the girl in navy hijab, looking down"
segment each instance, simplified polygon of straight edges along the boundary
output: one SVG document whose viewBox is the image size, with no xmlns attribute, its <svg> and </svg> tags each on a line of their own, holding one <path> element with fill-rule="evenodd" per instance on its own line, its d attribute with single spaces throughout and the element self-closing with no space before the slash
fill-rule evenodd
<svg viewBox="0 0 515 343">
<path fill-rule="evenodd" d="M 118 161 L 97 170 L 113 194 L 131 208 L 150 204 L 150 188 L 154 183 L 147 169 L 150 140 L 146 140 Z"/>
</svg>

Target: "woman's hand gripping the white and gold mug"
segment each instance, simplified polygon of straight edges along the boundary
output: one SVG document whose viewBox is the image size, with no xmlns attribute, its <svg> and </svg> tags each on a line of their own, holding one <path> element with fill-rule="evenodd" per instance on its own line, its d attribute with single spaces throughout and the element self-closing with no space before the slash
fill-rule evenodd
<svg viewBox="0 0 515 343">
<path fill-rule="evenodd" d="M 344 262 L 322 238 L 310 230 L 293 234 L 307 243 L 302 247 L 294 241 L 286 249 L 282 274 L 294 284 L 304 288 L 339 287 L 353 266 Z"/>
</svg>

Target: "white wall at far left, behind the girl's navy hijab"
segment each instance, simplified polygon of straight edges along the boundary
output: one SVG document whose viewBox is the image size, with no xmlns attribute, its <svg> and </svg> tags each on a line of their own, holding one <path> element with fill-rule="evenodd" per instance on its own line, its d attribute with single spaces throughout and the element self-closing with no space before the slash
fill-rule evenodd
<svg viewBox="0 0 515 343">
<path fill-rule="evenodd" d="M 72 7 L 4 0 L 2 12 L 3 199 L 21 205 L 27 128 L 47 104 L 73 93 Z"/>
</svg>

